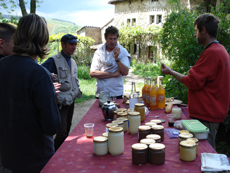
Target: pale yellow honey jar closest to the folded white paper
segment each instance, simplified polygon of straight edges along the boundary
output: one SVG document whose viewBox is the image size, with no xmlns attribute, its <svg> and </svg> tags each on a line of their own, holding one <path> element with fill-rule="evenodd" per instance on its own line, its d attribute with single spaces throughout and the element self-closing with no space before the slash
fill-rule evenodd
<svg viewBox="0 0 230 173">
<path fill-rule="evenodd" d="M 196 159 L 196 144 L 193 141 L 180 142 L 180 159 L 191 162 Z"/>
</svg>

